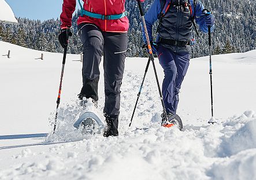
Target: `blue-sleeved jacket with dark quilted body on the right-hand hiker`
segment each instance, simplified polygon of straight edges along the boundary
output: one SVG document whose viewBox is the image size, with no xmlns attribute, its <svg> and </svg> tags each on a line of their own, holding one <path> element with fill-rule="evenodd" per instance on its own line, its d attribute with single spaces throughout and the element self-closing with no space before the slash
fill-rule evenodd
<svg viewBox="0 0 256 180">
<path fill-rule="evenodd" d="M 175 3 L 176 1 L 177 0 L 172 0 L 172 3 Z M 193 0 L 188 0 L 188 1 L 190 2 L 192 7 L 192 16 L 194 16 L 195 14 L 195 22 L 199 25 L 199 28 L 203 32 L 207 33 L 208 27 L 207 25 L 205 25 L 205 14 L 202 14 L 202 10 L 205 8 L 203 7 L 202 2 L 196 1 L 195 10 L 194 10 L 194 1 Z M 150 41 L 153 40 L 152 26 L 154 22 L 158 20 L 159 14 L 161 14 L 161 12 L 162 12 L 161 0 L 154 0 L 150 9 L 147 11 L 147 13 L 144 16 Z M 176 41 L 190 40 L 192 36 L 192 22 L 190 18 L 191 18 L 190 11 L 187 13 L 184 13 L 184 11 L 180 12 L 179 10 L 177 10 L 177 7 L 173 7 L 171 5 L 168 12 L 166 12 L 164 16 L 161 22 L 161 25 L 159 26 L 158 34 L 157 34 L 157 43 L 159 41 L 159 37 L 170 39 L 170 40 L 176 40 Z M 178 20 L 178 19 L 181 19 L 181 20 Z M 213 29 L 214 29 L 214 25 L 211 26 L 211 31 L 213 31 Z M 144 43 L 146 43 L 147 41 L 146 41 L 143 25 L 142 25 L 142 30 L 143 30 L 143 40 L 144 40 Z M 188 48 L 187 46 L 184 46 L 181 48 L 181 47 L 177 47 L 177 45 L 176 47 L 175 45 L 169 45 L 169 47 L 175 52 L 190 51 L 190 48 Z"/>
</svg>

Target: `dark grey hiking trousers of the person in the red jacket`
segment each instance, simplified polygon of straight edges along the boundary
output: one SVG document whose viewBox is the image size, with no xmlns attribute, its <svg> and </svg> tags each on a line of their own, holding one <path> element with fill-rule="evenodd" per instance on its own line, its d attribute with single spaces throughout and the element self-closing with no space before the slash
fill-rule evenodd
<svg viewBox="0 0 256 180">
<path fill-rule="evenodd" d="M 108 117 L 118 117 L 120 110 L 120 87 L 124 73 L 127 51 L 127 33 L 101 32 L 93 25 L 78 26 L 83 43 L 83 87 L 81 94 L 98 101 L 99 63 L 103 55 L 105 108 Z"/>
</svg>

